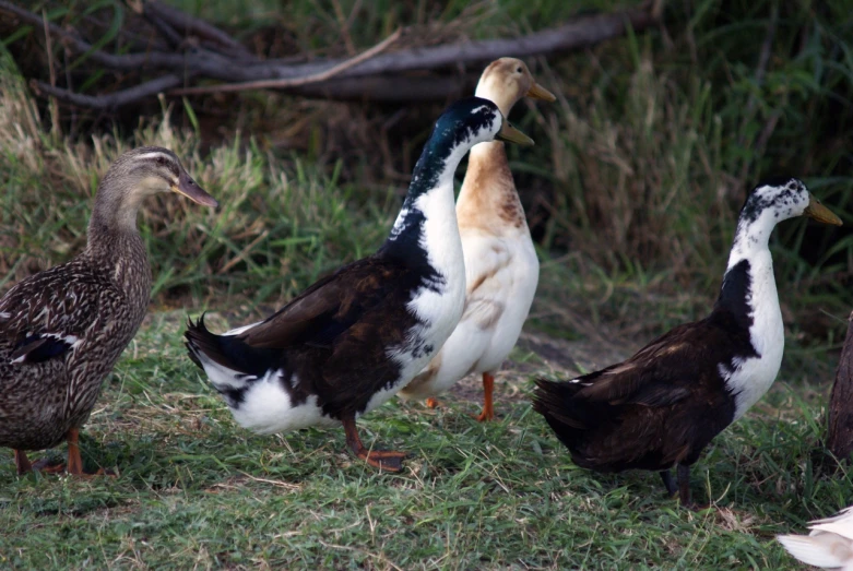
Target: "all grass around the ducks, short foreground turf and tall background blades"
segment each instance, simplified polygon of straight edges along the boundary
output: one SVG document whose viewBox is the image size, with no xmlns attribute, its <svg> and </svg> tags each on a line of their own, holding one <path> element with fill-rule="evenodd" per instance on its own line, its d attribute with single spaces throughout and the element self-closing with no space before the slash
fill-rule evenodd
<svg viewBox="0 0 853 571">
<path fill-rule="evenodd" d="M 401 24 L 424 41 L 508 37 L 617 5 L 341 0 L 347 17 L 360 7 L 342 25 L 334 3 L 309 0 L 173 3 L 273 57 L 345 56 L 344 32 L 364 49 Z M 48 17 L 74 24 L 87 5 L 66 4 Z M 106 26 L 129 13 L 98 5 Z M 799 175 L 853 222 L 853 4 L 687 5 L 666 3 L 665 33 L 531 61 L 559 100 L 513 112 L 537 142 L 510 150 L 541 242 L 528 331 L 584 369 L 707 313 L 736 211 L 761 176 Z M 83 247 L 97 180 L 131 146 L 174 148 L 222 207 L 146 203 L 153 313 L 83 441 L 91 467 L 120 477 L 17 478 L 0 450 L 0 567 L 796 569 L 774 534 L 850 503 L 850 474 L 815 462 L 853 307 L 853 237 L 805 221 L 781 225 L 772 241 L 787 328 L 780 378 L 694 471 L 694 495 L 711 510 L 679 509 L 655 474 L 574 466 L 528 402 L 533 376 L 567 373 L 553 355 L 517 350 L 495 425 L 473 421 L 478 403 L 459 396 L 437 412 L 393 401 L 359 421 L 366 442 L 411 452 L 402 475 L 355 461 L 340 429 L 262 438 L 236 427 L 183 354 L 186 314 L 210 308 L 247 322 L 372 251 L 441 105 L 244 94 L 173 100 L 131 127 L 90 132 L 92 116 L 63 109 L 54 121 L 26 91 L 19 66 L 32 72 L 40 45 L 25 33 L 4 38 L 0 64 L 0 289 Z M 121 49 L 110 33 L 105 49 Z M 75 86 L 115 88 L 90 66 L 75 68 Z"/>
</svg>

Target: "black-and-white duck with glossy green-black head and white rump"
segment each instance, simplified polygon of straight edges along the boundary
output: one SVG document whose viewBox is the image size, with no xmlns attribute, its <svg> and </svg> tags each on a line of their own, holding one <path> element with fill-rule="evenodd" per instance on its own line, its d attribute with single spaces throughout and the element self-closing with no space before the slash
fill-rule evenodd
<svg viewBox="0 0 853 571">
<path fill-rule="evenodd" d="M 405 453 L 368 450 L 356 419 L 391 398 L 447 341 L 462 317 L 465 267 L 453 175 L 477 143 L 533 141 L 482 97 L 436 121 L 403 206 L 371 255 L 321 278 L 265 320 L 211 333 L 204 314 L 186 332 L 190 358 L 237 424 L 260 435 L 342 425 L 368 465 L 402 471 Z"/>
</svg>

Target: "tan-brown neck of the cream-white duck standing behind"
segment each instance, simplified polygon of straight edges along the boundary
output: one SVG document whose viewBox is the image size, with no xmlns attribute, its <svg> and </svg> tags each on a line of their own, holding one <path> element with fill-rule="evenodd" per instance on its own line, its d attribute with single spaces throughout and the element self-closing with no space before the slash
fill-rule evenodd
<svg viewBox="0 0 853 571">
<path fill-rule="evenodd" d="M 526 230 L 521 205 L 503 143 L 474 145 L 467 163 L 465 181 L 457 200 L 461 227 L 483 227 L 489 231 Z"/>
</svg>

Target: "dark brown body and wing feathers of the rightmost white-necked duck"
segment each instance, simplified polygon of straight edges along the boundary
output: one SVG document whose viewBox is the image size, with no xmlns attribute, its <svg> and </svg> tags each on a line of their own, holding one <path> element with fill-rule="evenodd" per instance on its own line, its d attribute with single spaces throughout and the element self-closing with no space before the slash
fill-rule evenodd
<svg viewBox="0 0 853 571">
<path fill-rule="evenodd" d="M 714 310 L 577 382 L 537 380 L 534 408 L 580 466 L 611 472 L 691 464 L 734 417 L 734 397 L 718 367 L 745 343 L 748 330 Z"/>
</svg>

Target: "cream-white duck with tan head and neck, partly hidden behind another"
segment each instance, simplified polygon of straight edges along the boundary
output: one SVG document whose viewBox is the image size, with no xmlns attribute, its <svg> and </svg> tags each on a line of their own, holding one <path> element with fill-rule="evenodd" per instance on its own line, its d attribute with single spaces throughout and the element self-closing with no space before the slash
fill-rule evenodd
<svg viewBox="0 0 853 571">
<path fill-rule="evenodd" d="M 505 117 L 523 97 L 556 100 L 516 58 L 500 58 L 486 67 L 475 95 L 495 102 Z M 479 143 L 471 150 L 457 219 L 465 259 L 465 309 L 450 338 L 400 396 L 426 398 L 426 405 L 435 408 L 438 394 L 474 373 L 482 376 L 484 395 L 476 418 L 493 420 L 495 374 L 521 335 L 540 276 L 503 143 Z"/>
</svg>

